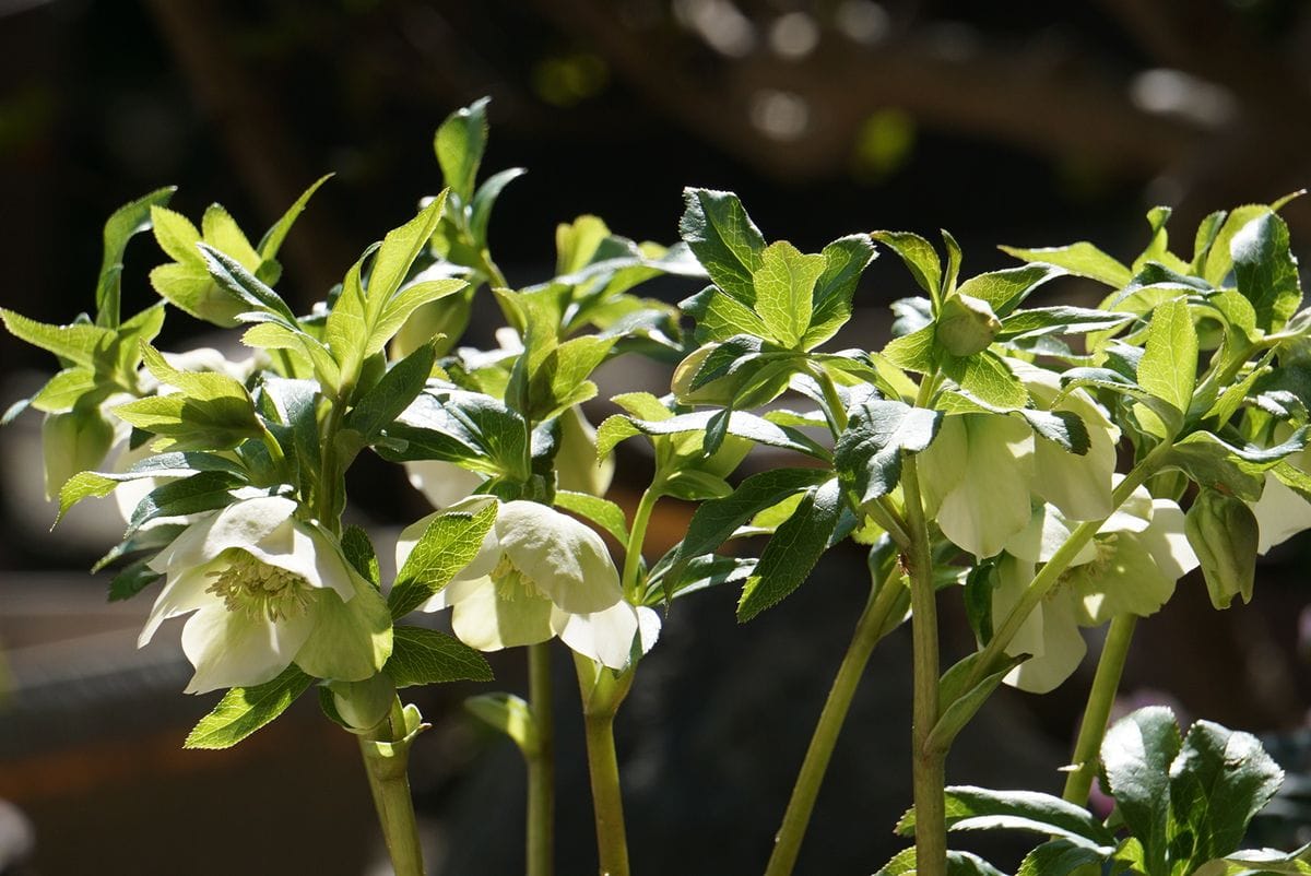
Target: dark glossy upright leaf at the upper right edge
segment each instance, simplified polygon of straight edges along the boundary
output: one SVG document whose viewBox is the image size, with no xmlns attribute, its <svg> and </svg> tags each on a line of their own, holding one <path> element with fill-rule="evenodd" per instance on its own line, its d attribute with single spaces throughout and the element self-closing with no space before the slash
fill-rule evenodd
<svg viewBox="0 0 1311 876">
<path fill-rule="evenodd" d="M 1298 262 L 1289 252 L 1289 227 L 1266 212 L 1230 240 L 1238 291 L 1256 308 L 1256 324 L 1266 332 L 1283 328 L 1302 303 Z"/>
</svg>

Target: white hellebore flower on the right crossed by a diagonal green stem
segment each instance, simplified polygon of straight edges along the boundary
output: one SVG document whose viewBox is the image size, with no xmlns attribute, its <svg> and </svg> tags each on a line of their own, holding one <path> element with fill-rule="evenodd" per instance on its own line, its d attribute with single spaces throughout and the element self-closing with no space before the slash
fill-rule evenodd
<svg viewBox="0 0 1311 876">
<path fill-rule="evenodd" d="M 1074 528 L 1058 509 L 1044 505 L 1006 546 L 992 590 L 998 622 L 1020 601 L 1037 567 L 1051 559 Z M 1008 654 L 1030 654 L 1006 683 L 1046 694 L 1068 678 L 1087 652 L 1079 627 L 1100 627 L 1120 614 L 1155 614 L 1175 582 L 1198 565 L 1184 532 L 1184 513 L 1139 487 L 1097 530 L 1046 598 L 1025 619 Z"/>
</svg>

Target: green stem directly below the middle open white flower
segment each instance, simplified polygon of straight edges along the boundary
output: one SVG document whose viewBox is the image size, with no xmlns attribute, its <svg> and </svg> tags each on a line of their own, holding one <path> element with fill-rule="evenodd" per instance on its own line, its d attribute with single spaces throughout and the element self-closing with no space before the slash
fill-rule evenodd
<svg viewBox="0 0 1311 876">
<path fill-rule="evenodd" d="M 616 677 L 581 654 L 574 654 L 574 665 L 582 692 L 600 876 L 628 876 L 628 835 L 624 829 L 619 758 L 615 754 L 615 715 L 632 687 L 633 670 L 629 667 Z"/>
</svg>

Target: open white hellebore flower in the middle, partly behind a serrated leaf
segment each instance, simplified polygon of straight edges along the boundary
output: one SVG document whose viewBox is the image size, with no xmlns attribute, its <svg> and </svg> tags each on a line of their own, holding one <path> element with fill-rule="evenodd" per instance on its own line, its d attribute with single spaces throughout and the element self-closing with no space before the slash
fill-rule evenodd
<svg viewBox="0 0 1311 876">
<path fill-rule="evenodd" d="M 485 501 L 469 500 L 476 505 Z M 397 568 L 405 565 L 434 517 L 401 532 Z M 526 501 L 499 505 L 477 556 L 420 608 L 451 608 L 455 635 L 480 650 L 560 636 L 579 654 L 611 669 L 628 665 L 638 635 L 645 653 L 659 633 L 654 611 L 624 601 L 619 573 L 597 532 L 552 508 Z"/>
</svg>

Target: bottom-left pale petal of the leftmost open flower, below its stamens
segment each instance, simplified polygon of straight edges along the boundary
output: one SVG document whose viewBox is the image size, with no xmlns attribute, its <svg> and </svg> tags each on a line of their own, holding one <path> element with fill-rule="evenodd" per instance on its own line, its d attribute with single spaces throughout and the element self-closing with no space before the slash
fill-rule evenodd
<svg viewBox="0 0 1311 876">
<path fill-rule="evenodd" d="M 182 628 L 182 650 L 195 666 L 187 694 L 253 687 L 273 681 L 309 637 L 313 620 L 302 615 L 271 623 L 211 602 Z"/>
</svg>

